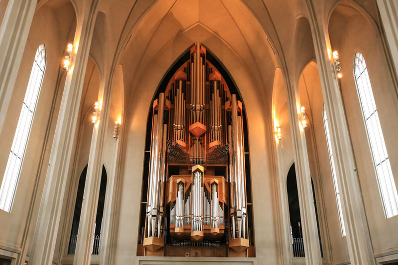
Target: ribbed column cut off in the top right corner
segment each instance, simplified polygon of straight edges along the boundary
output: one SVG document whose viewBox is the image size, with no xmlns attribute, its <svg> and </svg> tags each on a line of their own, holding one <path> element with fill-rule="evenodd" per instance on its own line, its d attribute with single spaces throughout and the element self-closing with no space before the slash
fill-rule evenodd
<svg viewBox="0 0 398 265">
<path fill-rule="evenodd" d="M 377 0 L 383 28 L 390 47 L 396 75 L 398 76 L 398 1 Z"/>
</svg>

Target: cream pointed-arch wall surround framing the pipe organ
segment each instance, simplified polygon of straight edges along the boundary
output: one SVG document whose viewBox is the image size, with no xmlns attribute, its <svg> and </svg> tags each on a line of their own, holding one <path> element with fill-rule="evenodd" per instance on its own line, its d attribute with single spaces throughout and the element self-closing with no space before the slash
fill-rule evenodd
<svg viewBox="0 0 398 265">
<path fill-rule="evenodd" d="M 250 73 L 244 68 L 236 55 L 217 37 L 202 27 L 195 27 L 187 31 L 173 43 L 163 48 L 162 53 L 154 57 L 152 62 L 144 69 L 144 74 L 140 77 L 137 86 L 132 88 L 134 92 L 128 103 L 126 118 L 127 139 L 123 144 L 125 146 L 122 161 L 124 166 L 121 173 L 123 180 L 114 263 L 128 263 L 134 257 L 137 247 L 135 235 L 138 234 L 139 220 L 137 215 L 139 214 L 141 196 L 145 126 L 150 102 L 167 69 L 195 40 L 200 40 L 220 59 L 231 73 L 238 88 L 242 88 L 240 92 L 243 100 L 250 102 L 250 104 L 246 104 L 246 108 L 250 142 L 256 255 L 258 260 L 265 264 L 275 264 L 279 259 L 276 247 L 278 244 L 276 242 L 279 239 L 274 229 L 277 220 L 275 215 L 268 214 L 274 212 L 271 190 L 274 187 L 271 184 L 271 177 L 268 175 L 270 171 L 269 155 L 267 154 L 264 137 L 266 134 L 264 127 L 266 119 L 258 111 L 261 109 L 261 104 L 254 92 L 256 85 L 253 83 Z M 270 115 L 271 113 L 269 113 Z M 126 231 L 129 232 L 126 233 Z"/>
</svg>

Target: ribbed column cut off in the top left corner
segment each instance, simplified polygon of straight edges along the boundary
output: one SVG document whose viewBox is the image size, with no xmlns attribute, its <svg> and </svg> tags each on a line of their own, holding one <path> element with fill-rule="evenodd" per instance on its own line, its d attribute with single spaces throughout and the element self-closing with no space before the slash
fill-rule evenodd
<svg viewBox="0 0 398 265">
<path fill-rule="evenodd" d="M 0 132 L 21 64 L 37 1 L 10 0 L 0 26 Z"/>
</svg>

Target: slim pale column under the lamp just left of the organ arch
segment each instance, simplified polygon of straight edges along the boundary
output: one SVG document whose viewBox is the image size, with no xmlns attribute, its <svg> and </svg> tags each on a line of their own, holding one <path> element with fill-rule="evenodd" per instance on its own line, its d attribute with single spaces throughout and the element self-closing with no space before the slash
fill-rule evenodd
<svg viewBox="0 0 398 265">
<path fill-rule="evenodd" d="M 112 168 L 110 169 L 109 177 L 106 182 L 106 193 L 105 193 L 105 205 L 103 208 L 103 221 L 102 221 L 102 233 L 101 233 L 101 245 L 100 245 L 100 264 L 113 264 L 111 253 L 113 251 L 114 242 L 114 224 L 115 216 L 117 216 L 117 197 L 119 191 L 119 168 L 120 159 L 122 153 L 122 126 L 124 120 L 119 127 L 119 135 L 114 143 L 113 161 Z"/>
</svg>

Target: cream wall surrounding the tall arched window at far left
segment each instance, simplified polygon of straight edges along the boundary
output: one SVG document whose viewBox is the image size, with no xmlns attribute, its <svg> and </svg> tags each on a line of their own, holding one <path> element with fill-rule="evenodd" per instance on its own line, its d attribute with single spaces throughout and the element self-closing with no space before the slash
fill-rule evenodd
<svg viewBox="0 0 398 265">
<path fill-rule="evenodd" d="M 2 2 L 2 1 L 1 1 Z M 44 177 L 54 134 L 57 112 L 62 96 L 63 72 L 60 70 L 60 58 L 67 36 L 73 24 L 73 9 L 65 7 L 64 18 L 69 23 L 59 21 L 59 13 L 47 6 L 40 8 L 33 18 L 32 26 L 23 53 L 22 63 L 18 72 L 14 92 L 6 115 L 6 124 L 0 135 L 0 143 L 4 147 L 0 153 L 0 172 L 4 172 L 8 160 L 19 113 L 25 95 L 27 83 L 32 69 L 33 59 L 40 44 L 46 47 L 46 70 L 39 95 L 37 108 L 27 144 L 27 149 L 21 169 L 21 175 L 16 188 L 15 199 L 10 213 L 0 211 L 0 245 L 1 248 L 18 252 L 22 245 L 24 229 L 33 231 L 35 218 L 40 203 L 40 196 L 33 201 L 36 193 L 41 194 Z M 59 88 L 57 90 L 57 86 Z M 52 104 L 54 104 L 52 106 Z M 53 109 L 52 109 L 53 108 Z M 54 112 L 54 116 L 52 115 Z M 50 118 L 50 120 L 49 120 Z M 49 126 L 49 127 L 48 127 Z M 41 165 L 41 167 L 40 167 Z M 2 174 L 1 177 L 2 179 Z M 32 208 L 33 207 L 33 210 Z M 29 214 L 32 211 L 33 215 Z M 28 219 L 31 218 L 31 219 Z M 29 225 L 31 225 L 29 227 Z M 29 233 L 30 233 L 29 232 Z M 27 236 L 27 234 L 25 234 Z"/>
</svg>

